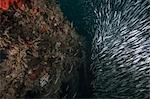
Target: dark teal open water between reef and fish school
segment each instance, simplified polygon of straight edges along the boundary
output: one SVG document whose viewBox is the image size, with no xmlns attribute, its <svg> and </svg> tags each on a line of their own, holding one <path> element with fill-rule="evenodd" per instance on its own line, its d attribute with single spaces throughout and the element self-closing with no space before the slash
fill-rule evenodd
<svg viewBox="0 0 150 99">
<path fill-rule="evenodd" d="M 85 25 L 84 19 L 84 9 L 82 8 L 82 0 L 59 0 L 60 8 L 64 13 L 64 17 L 73 23 L 74 28 L 79 33 L 86 38 L 85 40 L 85 52 L 86 52 L 86 67 L 79 68 L 79 95 L 80 98 L 91 97 L 91 73 L 89 67 L 91 64 L 91 35 L 87 33 L 87 26 Z"/>
</svg>

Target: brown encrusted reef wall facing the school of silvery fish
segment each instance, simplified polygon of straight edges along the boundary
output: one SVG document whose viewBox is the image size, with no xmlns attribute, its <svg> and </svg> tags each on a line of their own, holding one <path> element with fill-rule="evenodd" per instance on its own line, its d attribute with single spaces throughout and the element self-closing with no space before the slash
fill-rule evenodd
<svg viewBox="0 0 150 99">
<path fill-rule="evenodd" d="M 85 63 L 82 40 L 50 1 L 32 0 L 23 11 L 0 10 L 0 98 L 36 92 L 35 97 L 59 98 L 64 82 L 76 93 L 72 86 L 78 86 L 78 67 Z"/>
</svg>

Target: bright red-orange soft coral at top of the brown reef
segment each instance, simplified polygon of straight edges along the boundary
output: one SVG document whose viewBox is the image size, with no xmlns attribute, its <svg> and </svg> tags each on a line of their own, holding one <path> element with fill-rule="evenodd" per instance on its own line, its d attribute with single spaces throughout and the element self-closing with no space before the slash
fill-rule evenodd
<svg viewBox="0 0 150 99">
<path fill-rule="evenodd" d="M 25 9 L 23 0 L 0 0 L 0 9 L 7 11 L 9 9 L 9 6 L 13 5 L 14 3 L 16 3 L 18 8 L 20 8 L 21 10 Z"/>
</svg>

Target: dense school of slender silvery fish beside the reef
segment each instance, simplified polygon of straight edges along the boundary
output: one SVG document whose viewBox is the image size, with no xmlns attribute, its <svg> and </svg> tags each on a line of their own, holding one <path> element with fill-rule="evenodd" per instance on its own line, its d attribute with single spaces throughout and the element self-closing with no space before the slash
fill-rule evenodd
<svg viewBox="0 0 150 99">
<path fill-rule="evenodd" d="M 87 0 L 93 22 L 94 95 L 143 99 L 150 94 L 150 2 Z M 86 6 L 89 6 L 88 4 Z M 87 16 L 88 17 L 88 16 Z M 90 21 L 89 21 L 90 20 Z M 94 32 L 93 32 L 94 31 Z M 150 97 L 150 96 L 149 96 Z"/>
</svg>

